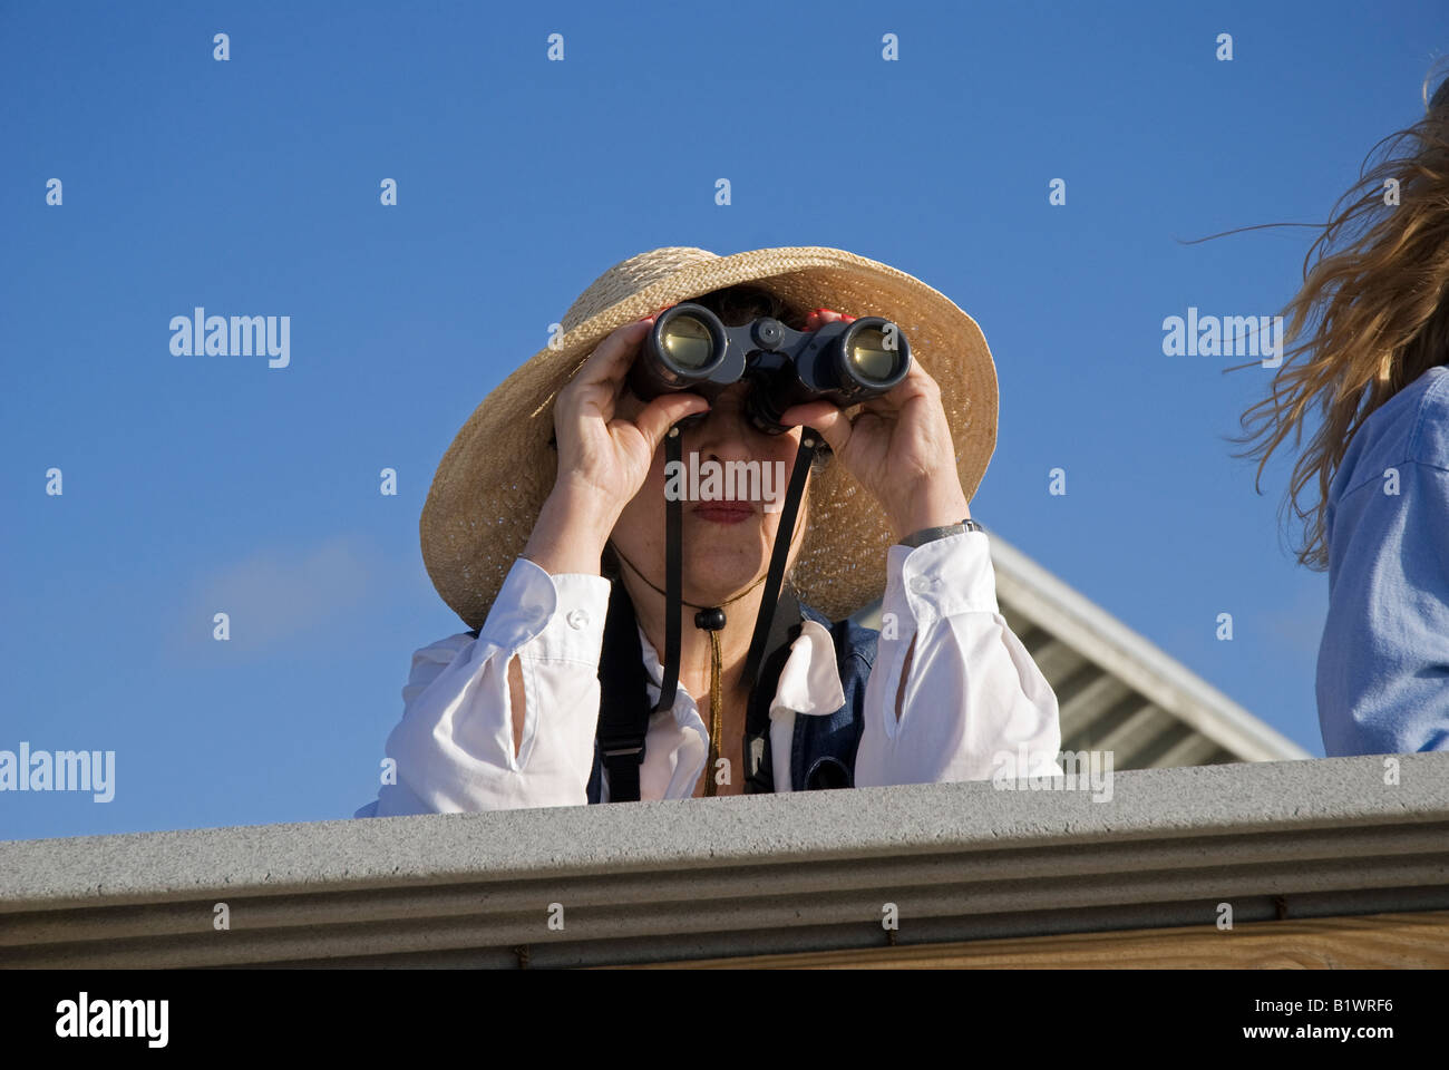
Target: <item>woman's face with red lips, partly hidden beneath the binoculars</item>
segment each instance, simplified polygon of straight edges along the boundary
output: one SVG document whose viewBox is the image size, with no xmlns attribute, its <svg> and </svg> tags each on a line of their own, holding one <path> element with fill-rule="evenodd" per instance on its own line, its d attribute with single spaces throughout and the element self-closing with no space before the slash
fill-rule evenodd
<svg viewBox="0 0 1449 1070">
<path fill-rule="evenodd" d="M 782 435 L 767 435 L 758 431 L 743 412 L 748 383 L 740 380 L 722 393 L 703 420 L 685 428 L 681 442 L 681 458 L 685 476 L 691 467 L 700 470 L 700 490 L 704 492 L 704 474 L 710 467 L 727 471 L 730 461 L 755 461 L 749 470 L 761 480 L 745 483 L 739 478 L 742 468 L 735 468 L 733 502 L 691 499 L 687 478 L 678 486 L 684 492 L 681 502 L 681 529 L 684 545 L 682 586 L 684 600 L 701 606 L 714 606 L 753 583 L 769 568 L 769 554 L 780 531 L 781 506 L 790 471 L 794 467 L 796 451 L 800 447 L 800 428 L 791 428 Z M 632 419 L 643 403 L 630 391 L 619 399 L 617 416 Z M 664 522 L 665 522 L 665 457 L 664 445 L 653 454 L 653 465 L 639 493 L 625 506 L 614 525 L 613 544 L 633 563 L 645 577 L 661 590 L 664 574 Z M 693 455 L 693 458 L 691 458 Z M 713 463 L 713 465 L 706 465 Z M 764 478 L 768 473 L 768 483 Z M 743 484 L 743 486 L 742 486 Z M 804 541 L 809 502 L 801 503 L 801 519 L 796 525 L 796 544 L 791 547 L 790 564 L 794 564 L 800 544 Z M 768 489 L 774 502 L 761 500 L 761 492 Z M 720 492 L 727 486 L 720 480 Z M 753 499 L 753 500 L 739 500 Z M 771 509 L 767 512 L 765 506 Z M 623 565 L 629 573 L 629 565 Z"/>
</svg>

